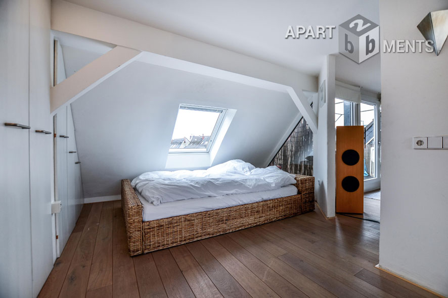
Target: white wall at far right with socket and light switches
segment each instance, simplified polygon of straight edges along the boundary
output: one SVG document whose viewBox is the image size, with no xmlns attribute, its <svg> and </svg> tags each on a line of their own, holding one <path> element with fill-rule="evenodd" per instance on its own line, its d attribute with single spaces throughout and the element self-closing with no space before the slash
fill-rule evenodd
<svg viewBox="0 0 448 298">
<path fill-rule="evenodd" d="M 380 1 L 381 40 L 422 39 L 417 24 L 444 0 Z M 448 151 L 413 150 L 412 137 L 448 134 L 448 44 L 434 53 L 382 54 L 380 266 L 448 296 Z"/>
</svg>

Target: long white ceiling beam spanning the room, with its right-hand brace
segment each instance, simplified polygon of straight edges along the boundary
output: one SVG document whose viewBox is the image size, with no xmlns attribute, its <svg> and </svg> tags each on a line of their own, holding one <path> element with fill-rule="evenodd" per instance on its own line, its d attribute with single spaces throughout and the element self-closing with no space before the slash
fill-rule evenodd
<svg viewBox="0 0 448 298">
<path fill-rule="evenodd" d="M 52 29 L 290 87 L 292 100 L 317 133 L 316 114 L 301 95 L 317 91 L 316 76 L 65 1 L 52 1 Z"/>
</svg>

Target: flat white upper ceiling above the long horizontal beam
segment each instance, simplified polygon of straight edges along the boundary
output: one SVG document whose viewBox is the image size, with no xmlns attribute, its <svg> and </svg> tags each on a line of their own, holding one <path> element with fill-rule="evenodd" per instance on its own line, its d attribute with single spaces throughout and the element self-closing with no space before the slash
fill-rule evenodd
<svg viewBox="0 0 448 298">
<path fill-rule="evenodd" d="M 68 0 L 68 2 L 310 75 L 319 74 L 326 55 L 338 53 L 338 29 L 335 29 L 334 37 L 331 39 L 285 39 L 289 25 L 294 27 L 311 25 L 314 29 L 317 25 L 338 26 L 357 14 L 377 24 L 380 21 L 378 0 Z M 381 91 L 380 55 L 360 65 L 340 56 L 336 60 L 336 65 L 336 76 L 339 80 L 361 85 L 371 91 Z"/>
</svg>

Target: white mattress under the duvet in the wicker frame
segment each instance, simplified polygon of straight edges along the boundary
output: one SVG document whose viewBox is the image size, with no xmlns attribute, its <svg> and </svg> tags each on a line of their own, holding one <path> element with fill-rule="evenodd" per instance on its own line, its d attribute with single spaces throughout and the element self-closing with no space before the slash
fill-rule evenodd
<svg viewBox="0 0 448 298">
<path fill-rule="evenodd" d="M 294 185 L 287 185 L 274 190 L 190 198 L 162 203 L 157 206 L 149 203 L 139 191 L 136 191 L 136 193 L 143 205 L 143 221 L 150 221 L 296 195 L 297 188 Z"/>
</svg>

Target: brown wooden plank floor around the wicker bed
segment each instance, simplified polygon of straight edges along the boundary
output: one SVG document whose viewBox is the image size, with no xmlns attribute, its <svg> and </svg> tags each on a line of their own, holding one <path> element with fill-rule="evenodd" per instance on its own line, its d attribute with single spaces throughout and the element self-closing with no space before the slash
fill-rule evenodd
<svg viewBox="0 0 448 298">
<path fill-rule="evenodd" d="M 120 202 L 84 205 L 40 297 L 432 297 L 376 269 L 379 228 L 311 212 L 137 257 Z"/>
</svg>

